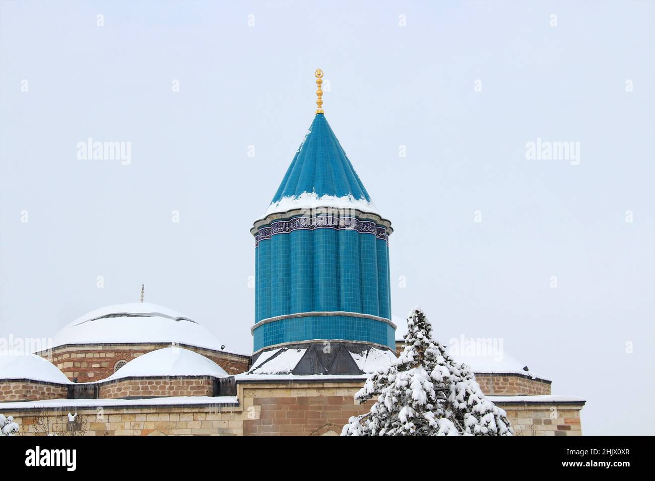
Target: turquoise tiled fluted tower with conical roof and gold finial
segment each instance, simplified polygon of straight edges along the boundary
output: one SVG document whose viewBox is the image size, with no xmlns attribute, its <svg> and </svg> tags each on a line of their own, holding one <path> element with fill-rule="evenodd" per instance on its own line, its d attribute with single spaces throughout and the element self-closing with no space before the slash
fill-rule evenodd
<svg viewBox="0 0 655 481">
<path fill-rule="evenodd" d="M 325 115 L 317 113 L 271 205 L 250 231 L 253 350 L 316 339 L 393 350 L 391 231 Z"/>
</svg>

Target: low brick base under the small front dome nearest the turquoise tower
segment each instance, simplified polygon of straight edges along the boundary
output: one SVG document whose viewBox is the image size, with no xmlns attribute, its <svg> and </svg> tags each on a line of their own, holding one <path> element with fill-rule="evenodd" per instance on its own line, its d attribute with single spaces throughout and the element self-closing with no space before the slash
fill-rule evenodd
<svg viewBox="0 0 655 481">
<path fill-rule="evenodd" d="M 100 399 L 211 396 L 214 378 L 132 378 L 100 383 Z"/>
</svg>

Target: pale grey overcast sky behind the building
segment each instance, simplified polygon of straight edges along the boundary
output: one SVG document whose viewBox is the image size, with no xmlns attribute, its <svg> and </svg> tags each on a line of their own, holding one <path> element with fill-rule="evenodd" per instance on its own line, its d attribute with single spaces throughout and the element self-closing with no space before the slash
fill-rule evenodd
<svg viewBox="0 0 655 481">
<path fill-rule="evenodd" d="M 394 314 L 420 304 L 444 343 L 502 338 L 587 399 L 586 435 L 648 433 L 654 18 L 649 1 L 1 0 L 0 337 L 50 337 L 145 283 L 252 352 L 249 231 L 320 67 L 394 226 Z M 130 163 L 80 160 L 89 137 L 130 142 Z M 529 159 L 537 139 L 574 150 Z"/>
</svg>

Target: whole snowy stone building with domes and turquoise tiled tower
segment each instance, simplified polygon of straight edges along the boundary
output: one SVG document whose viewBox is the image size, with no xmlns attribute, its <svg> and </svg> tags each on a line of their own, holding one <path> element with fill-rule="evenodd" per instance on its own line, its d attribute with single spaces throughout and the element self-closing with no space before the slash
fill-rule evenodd
<svg viewBox="0 0 655 481">
<path fill-rule="evenodd" d="M 393 229 L 327 123 L 322 75 L 309 132 L 251 230 L 252 355 L 225 351 L 194 319 L 143 302 L 142 291 L 139 303 L 75 319 L 52 349 L 0 356 L 0 413 L 22 434 L 339 435 L 369 411 L 355 393 L 402 349 Z M 457 360 L 517 435 L 582 434 L 584 399 L 552 395 L 550 380 L 514 359 Z"/>
</svg>

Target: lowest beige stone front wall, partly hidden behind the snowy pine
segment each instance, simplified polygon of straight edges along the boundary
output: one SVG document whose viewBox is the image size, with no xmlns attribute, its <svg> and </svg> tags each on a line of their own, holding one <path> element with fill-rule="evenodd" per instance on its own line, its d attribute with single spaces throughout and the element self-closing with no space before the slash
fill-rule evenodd
<svg viewBox="0 0 655 481">
<path fill-rule="evenodd" d="M 369 406 L 354 403 L 360 382 L 240 383 L 231 405 L 143 406 L 88 408 L 75 406 L 79 431 L 88 436 L 336 436 L 350 416 Z M 225 399 L 225 398 L 219 398 Z M 238 400 L 238 405 L 237 405 Z M 496 402 L 506 410 L 517 436 L 580 436 L 582 403 L 553 404 Z M 58 433 L 71 425 L 67 413 L 57 408 L 44 412 L 22 408 L 0 412 L 14 416 L 21 433 L 43 435 L 44 416 Z M 39 421 L 41 419 L 41 421 Z"/>
</svg>

